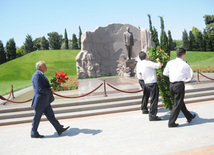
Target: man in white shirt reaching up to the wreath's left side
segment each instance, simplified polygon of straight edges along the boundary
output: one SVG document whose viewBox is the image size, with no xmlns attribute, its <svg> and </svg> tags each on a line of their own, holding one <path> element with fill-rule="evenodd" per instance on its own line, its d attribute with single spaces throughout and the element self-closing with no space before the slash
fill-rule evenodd
<svg viewBox="0 0 214 155">
<path fill-rule="evenodd" d="M 143 114 L 148 113 L 148 99 L 151 98 L 151 105 L 149 110 L 149 120 L 158 121 L 161 120 L 157 117 L 157 105 L 159 98 L 159 89 L 157 85 L 157 76 L 155 69 L 161 68 L 161 63 L 157 59 L 157 63 L 147 60 L 147 55 L 145 52 L 139 53 L 140 60 L 137 63 L 137 77 L 139 79 L 140 85 L 143 86 L 143 98 L 141 110 Z M 142 87 L 142 86 L 141 86 Z"/>
</svg>

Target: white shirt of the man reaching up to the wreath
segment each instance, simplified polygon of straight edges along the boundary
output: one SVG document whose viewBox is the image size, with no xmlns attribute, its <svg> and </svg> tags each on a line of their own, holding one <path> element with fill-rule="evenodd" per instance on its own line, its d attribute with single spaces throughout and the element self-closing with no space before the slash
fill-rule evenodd
<svg viewBox="0 0 214 155">
<path fill-rule="evenodd" d="M 155 69 L 159 68 L 158 63 L 154 63 L 149 60 L 139 60 L 136 67 L 137 78 L 139 80 L 144 80 L 145 84 L 157 82 Z M 141 73 L 141 75 L 139 73 Z"/>
</svg>

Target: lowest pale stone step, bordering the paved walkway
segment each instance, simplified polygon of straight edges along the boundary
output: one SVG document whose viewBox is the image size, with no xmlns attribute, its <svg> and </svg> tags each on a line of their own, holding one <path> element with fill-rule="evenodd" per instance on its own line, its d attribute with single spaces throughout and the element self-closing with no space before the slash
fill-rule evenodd
<svg viewBox="0 0 214 155">
<path fill-rule="evenodd" d="M 202 97 L 195 97 L 195 98 L 187 98 L 185 99 L 185 103 L 196 103 L 196 102 L 202 102 L 202 101 L 209 101 L 209 100 L 214 100 L 213 95 L 209 96 L 202 96 Z M 133 111 L 133 110 L 139 110 L 140 111 L 140 104 L 128 104 L 123 105 L 123 106 L 118 106 L 118 107 L 101 107 L 98 109 L 92 109 L 92 110 L 80 110 L 80 111 L 75 111 L 75 112 L 69 112 L 69 111 L 64 111 L 57 113 L 55 109 L 55 115 L 57 119 L 66 119 L 66 118 L 77 118 L 77 117 L 86 117 L 86 116 L 94 116 L 94 115 L 103 115 L 103 114 L 110 114 L 110 113 L 117 113 L 117 112 L 126 112 L 126 111 Z M 163 104 L 159 102 L 158 104 L 159 107 L 163 107 Z M 62 110 L 62 109 L 61 109 Z M 8 118 L 8 119 L 2 119 L 0 120 L 0 126 L 3 125 L 11 125 L 11 124 L 20 124 L 20 123 L 29 123 L 32 122 L 33 119 L 33 113 L 31 115 L 27 115 L 25 117 L 17 117 L 17 118 Z M 47 119 L 43 115 L 42 121 L 46 121 Z"/>
</svg>

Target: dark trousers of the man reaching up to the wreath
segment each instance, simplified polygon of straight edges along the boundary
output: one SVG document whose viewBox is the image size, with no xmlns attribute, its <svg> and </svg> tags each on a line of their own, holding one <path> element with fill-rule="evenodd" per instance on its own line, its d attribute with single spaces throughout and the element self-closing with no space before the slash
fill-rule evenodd
<svg viewBox="0 0 214 155">
<path fill-rule="evenodd" d="M 147 105 L 148 105 L 149 97 L 151 99 L 149 117 L 156 118 L 156 115 L 158 112 L 157 106 L 158 106 L 158 98 L 159 98 L 159 89 L 158 89 L 157 83 L 144 84 L 141 110 L 143 111 L 148 110 Z"/>
</svg>

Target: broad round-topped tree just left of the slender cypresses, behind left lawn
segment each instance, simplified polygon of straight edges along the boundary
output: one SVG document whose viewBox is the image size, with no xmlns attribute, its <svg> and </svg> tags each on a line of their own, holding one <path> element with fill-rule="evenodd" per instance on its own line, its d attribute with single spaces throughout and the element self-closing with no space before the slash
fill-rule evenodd
<svg viewBox="0 0 214 155">
<path fill-rule="evenodd" d="M 62 44 L 62 35 L 59 35 L 57 32 L 48 33 L 48 40 L 50 44 L 50 48 L 53 50 L 58 50 L 61 48 Z"/>
</svg>

